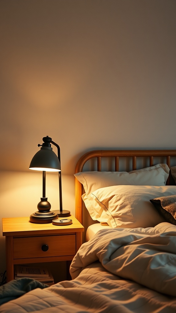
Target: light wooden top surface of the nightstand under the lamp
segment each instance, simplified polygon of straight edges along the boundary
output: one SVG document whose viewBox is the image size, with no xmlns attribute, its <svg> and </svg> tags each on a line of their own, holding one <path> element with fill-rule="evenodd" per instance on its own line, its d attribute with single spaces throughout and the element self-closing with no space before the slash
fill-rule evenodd
<svg viewBox="0 0 176 313">
<path fill-rule="evenodd" d="M 73 215 L 69 216 L 69 218 L 72 219 L 73 223 L 65 226 L 57 226 L 52 223 L 31 223 L 29 217 L 2 218 L 3 236 L 59 234 L 84 231 L 84 227 Z"/>
</svg>

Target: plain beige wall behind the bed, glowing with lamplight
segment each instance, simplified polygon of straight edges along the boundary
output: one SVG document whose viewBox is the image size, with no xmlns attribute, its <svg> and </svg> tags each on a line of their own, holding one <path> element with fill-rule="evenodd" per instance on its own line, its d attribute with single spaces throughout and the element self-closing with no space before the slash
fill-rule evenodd
<svg viewBox="0 0 176 313">
<path fill-rule="evenodd" d="M 0 217 L 35 211 L 43 136 L 60 145 L 71 210 L 84 152 L 175 148 L 175 15 L 173 0 L 1 0 Z"/>
</svg>

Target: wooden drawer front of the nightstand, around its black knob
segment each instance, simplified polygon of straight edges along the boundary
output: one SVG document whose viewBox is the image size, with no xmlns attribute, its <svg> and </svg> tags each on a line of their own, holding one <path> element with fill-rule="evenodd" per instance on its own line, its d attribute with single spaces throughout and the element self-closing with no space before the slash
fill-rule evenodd
<svg viewBox="0 0 176 313">
<path fill-rule="evenodd" d="M 14 238 L 13 259 L 75 255 L 75 241 L 74 234 Z M 47 248 L 46 245 L 48 246 L 48 250 L 43 251 L 42 249 Z"/>
</svg>

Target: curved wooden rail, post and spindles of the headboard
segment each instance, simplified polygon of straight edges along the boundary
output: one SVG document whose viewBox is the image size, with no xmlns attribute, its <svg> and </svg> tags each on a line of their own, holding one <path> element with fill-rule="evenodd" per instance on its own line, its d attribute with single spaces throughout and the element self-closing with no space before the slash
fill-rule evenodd
<svg viewBox="0 0 176 313">
<path fill-rule="evenodd" d="M 166 158 L 168 167 L 170 168 L 170 158 L 176 157 L 176 150 L 93 150 L 86 152 L 78 160 L 75 173 L 83 171 L 85 163 L 91 158 L 97 158 L 97 171 L 101 171 L 101 158 L 115 158 L 115 171 L 119 171 L 119 157 L 132 157 L 132 170 L 136 170 L 137 157 L 149 157 L 149 164 L 153 166 L 154 157 Z M 176 162 L 175 162 L 176 164 Z M 167 180 L 167 185 L 170 184 L 170 177 Z M 82 184 L 75 178 L 75 216 L 82 223 Z"/>
</svg>

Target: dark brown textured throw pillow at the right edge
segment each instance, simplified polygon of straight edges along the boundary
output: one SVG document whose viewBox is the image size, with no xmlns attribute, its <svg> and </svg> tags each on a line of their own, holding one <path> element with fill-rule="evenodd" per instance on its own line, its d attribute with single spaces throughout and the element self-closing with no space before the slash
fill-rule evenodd
<svg viewBox="0 0 176 313">
<path fill-rule="evenodd" d="M 167 222 L 176 225 L 176 195 L 155 198 L 150 202 Z"/>
</svg>

